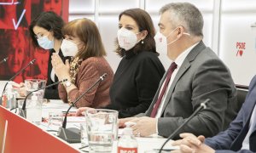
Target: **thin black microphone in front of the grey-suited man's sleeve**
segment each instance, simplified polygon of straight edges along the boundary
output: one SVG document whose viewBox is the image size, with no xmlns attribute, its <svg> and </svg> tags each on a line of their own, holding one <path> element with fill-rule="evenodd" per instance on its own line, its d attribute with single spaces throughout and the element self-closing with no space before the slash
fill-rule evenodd
<svg viewBox="0 0 256 153">
<path fill-rule="evenodd" d="M 177 129 L 166 139 L 166 142 L 164 144 L 162 144 L 159 153 L 161 153 L 161 151 L 163 150 L 164 146 L 166 145 L 166 143 L 170 140 L 173 139 L 177 133 L 180 132 L 180 130 L 201 110 L 204 110 L 207 108 L 207 103 L 210 101 L 210 99 L 206 99 L 204 102 L 201 103 L 201 105 L 194 111 L 194 113 L 189 116 L 189 118 L 187 119 L 187 121 L 183 122 L 183 124 L 179 127 L 177 127 Z"/>
</svg>

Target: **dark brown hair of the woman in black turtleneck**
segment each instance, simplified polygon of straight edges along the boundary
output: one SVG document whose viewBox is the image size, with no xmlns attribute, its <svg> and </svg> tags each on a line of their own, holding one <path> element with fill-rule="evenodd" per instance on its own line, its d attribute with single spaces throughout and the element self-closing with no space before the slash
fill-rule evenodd
<svg viewBox="0 0 256 153">
<path fill-rule="evenodd" d="M 140 8 L 126 9 L 124 12 L 119 14 L 119 20 L 121 19 L 122 15 L 130 16 L 133 20 L 135 20 L 139 31 L 148 31 L 148 35 L 145 37 L 145 39 L 143 39 L 144 43 L 138 42 L 137 45 L 132 48 L 133 52 L 138 53 L 141 51 L 148 51 L 156 53 L 154 42 L 155 31 L 150 15 Z M 120 48 L 119 45 L 117 45 L 115 52 L 119 54 L 120 57 L 125 55 L 125 49 Z"/>
</svg>

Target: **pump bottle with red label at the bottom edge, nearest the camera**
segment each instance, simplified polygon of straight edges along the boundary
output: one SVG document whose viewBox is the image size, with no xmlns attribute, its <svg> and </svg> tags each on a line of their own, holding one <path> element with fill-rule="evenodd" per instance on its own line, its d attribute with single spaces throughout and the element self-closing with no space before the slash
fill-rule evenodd
<svg viewBox="0 0 256 153">
<path fill-rule="evenodd" d="M 135 122 L 125 122 L 123 136 L 118 142 L 118 153 L 137 153 L 137 139 L 133 136 L 131 129 L 135 124 Z"/>
</svg>

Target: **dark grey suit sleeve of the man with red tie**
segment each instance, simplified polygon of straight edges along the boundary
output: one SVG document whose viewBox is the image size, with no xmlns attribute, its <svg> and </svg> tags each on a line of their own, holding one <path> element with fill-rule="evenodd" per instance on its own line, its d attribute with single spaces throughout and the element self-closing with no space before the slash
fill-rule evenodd
<svg viewBox="0 0 256 153">
<path fill-rule="evenodd" d="M 191 106 L 189 107 L 192 109 L 186 111 L 191 111 L 190 113 L 192 114 L 201 105 L 201 102 L 206 99 L 210 99 L 210 102 L 207 105 L 207 109 L 194 116 L 180 133 L 189 132 L 210 137 L 224 128 L 225 111 L 229 103 L 230 93 L 234 92 L 235 85 L 230 77 L 229 70 L 219 59 L 208 59 L 201 65 L 190 66 L 198 67 L 195 69 L 193 76 L 191 76 L 190 93 L 188 93 L 191 97 L 180 93 L 183 96 L 187 96 L 185 99 L 191 101 Z M 172 94 L 172 96 L 175 99 L 177 95 Z M 158 120 L 159 134 L 168 137 L 186 120 L 186 117 L 181 116 L 160 117 Z"/>
</svg>

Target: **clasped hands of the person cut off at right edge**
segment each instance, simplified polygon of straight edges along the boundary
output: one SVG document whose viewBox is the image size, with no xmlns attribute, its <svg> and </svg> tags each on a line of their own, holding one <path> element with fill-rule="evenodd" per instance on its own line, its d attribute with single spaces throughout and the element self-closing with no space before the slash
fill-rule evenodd
<svg viewBox="0 0 256 153">
<path fill-rule="evenodd" d="M 181 133 L 180 137 L 183 139 L 179 139 L 177 141 L 174 141 L 172 143 L 173 146 L 179 145 L 180 150 L 173 150 L 172 153 L 214 153 L 215 150 L 213 150 L 211 147 L 209 147 L 207 144 L 203 144 L 205 137 L 199 136 L 196 137 L 192 133 Z"/>
</svg>

